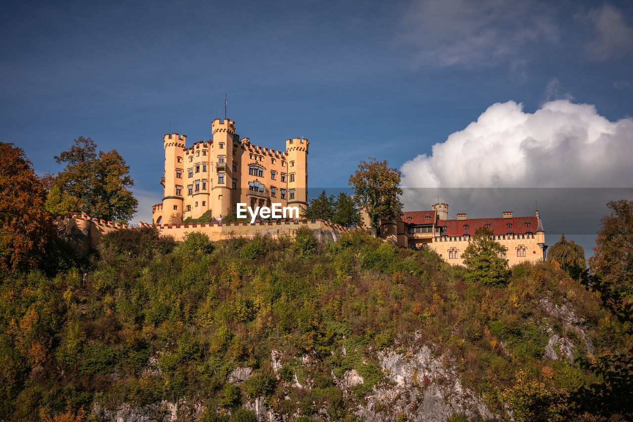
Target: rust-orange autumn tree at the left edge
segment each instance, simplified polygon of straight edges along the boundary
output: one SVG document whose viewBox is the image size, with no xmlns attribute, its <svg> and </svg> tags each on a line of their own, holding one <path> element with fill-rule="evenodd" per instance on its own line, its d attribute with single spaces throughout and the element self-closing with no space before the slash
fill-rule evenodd
<svg viewBox="0 0 633 422">
<path fill-rule="evenodd" d="M 46 190 L 22 148 L 0 142 L 0 270 L 37 266 L 53 220 L 44 209 Z"/>
</svg>

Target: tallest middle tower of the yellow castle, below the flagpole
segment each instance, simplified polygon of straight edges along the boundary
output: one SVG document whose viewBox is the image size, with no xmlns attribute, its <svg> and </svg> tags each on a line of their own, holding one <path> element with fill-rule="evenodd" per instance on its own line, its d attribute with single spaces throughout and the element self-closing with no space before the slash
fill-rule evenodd
<svg viewBox="0 0 633 422">
<path fill-rule="evenodd" d="M 229 214 L 232 202 L 231 166 L 233 163 L 233 137 L 235 122 L 215 119 L 211 122 L 213 152 L 211 153 L 211 195 L 209 202 L 213 216 Z"/>
</svg>

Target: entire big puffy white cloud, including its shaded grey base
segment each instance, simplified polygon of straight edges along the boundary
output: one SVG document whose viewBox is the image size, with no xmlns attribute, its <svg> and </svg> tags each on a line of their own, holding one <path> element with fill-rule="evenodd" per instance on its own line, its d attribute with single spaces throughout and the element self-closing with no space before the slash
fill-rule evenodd
<svg viewBox="0 0 633 422">
<path fill-rule="evenodd" d="M 632 150 L 632 118 L 610 121 L 568 100 L 534 113 L 497 103 L 432 154 L 403 164 L 403 202 L 429 209 L 439 196 L 453 212 L 484 217 L 500 216 L 501 208 L 532 214 L 538 200 L 561 232 L 591 233 L 605 202 L 633 196 Z"/>
</svg>

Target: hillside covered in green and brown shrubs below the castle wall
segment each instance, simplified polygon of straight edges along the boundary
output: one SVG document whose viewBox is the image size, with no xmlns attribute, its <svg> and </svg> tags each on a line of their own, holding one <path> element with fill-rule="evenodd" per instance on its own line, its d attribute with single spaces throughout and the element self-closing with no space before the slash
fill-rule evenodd
<svg viewBox="0 0 633 422">
<path fill-rule="evenodd" d="M 166 400 L 197 406 L 182 420 L 248 421 L 263 397 L 289 420 L 360 420 L 388 384 L 377 352 L 423 345 L 499 419 L 630 416 L 630 321 L 598 294 L 550 263 L 517 265 L 500 287 L 465 280 L 432 251 L 360 232 L 335 244 L 309 230 L 180 244 L 115 232 L 83 266 L 3 273 L 0 419 L 97 420 L 95 404 Z M 556 360 L 553 335 L 568 340 Z M 237 368 L 252 377 L 230 382 Z M 363 383 L 346 390 L 352 369 Z"/>
</svg>

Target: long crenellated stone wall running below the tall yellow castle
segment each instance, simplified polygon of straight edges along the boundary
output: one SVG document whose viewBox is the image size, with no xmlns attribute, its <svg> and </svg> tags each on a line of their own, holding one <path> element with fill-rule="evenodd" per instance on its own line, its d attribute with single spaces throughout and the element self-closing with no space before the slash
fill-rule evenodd
<svg viewBox="0 0 633 422">
<path fill-rule="evenodd" d="M 86 214 L 72 214 L 56 218 L 58 232 L 62 239 L 71 242 L 77 251 L 85 256 L 90 249 L 94 249 L 99 240 L 107 233 L 114 230 L 135 230 L 134 227 L 114 223 L 113 221 L 97 220 Z M 141 223 L 141 227 L 151 227 L 149 223 Z M 294 237 L 299 227 L 308 227 L 321 241 L 335 242 L 342 233 L 349 229 L 330 223 L 329 221 L 255 221 L 250 223 L 189 223 L 189 224 L 165 224 L 156 225 L 162 235 L 172 236 L 173 239 L 182 241 L 187 233 L 200 232 L 208 235 L 209 239 L 223 240 L 232 237 L 252 238 L 257 234 L 269 235 L 277 238 L 288 235 Z"/>
</svg>

